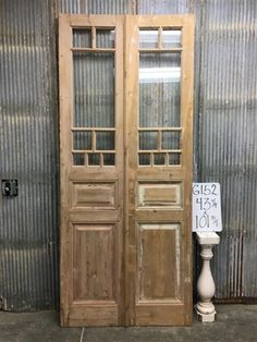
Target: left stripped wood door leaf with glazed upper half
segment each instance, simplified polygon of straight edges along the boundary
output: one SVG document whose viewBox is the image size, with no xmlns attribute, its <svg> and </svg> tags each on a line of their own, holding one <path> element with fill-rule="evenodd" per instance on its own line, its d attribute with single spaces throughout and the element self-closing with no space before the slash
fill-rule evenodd
<svg viewBox="0 0 257 342">
<path fill-rule="evenodd" d="M 61 325 L 121 325 L 123 20 L 59 25 Z"/>
</svg>

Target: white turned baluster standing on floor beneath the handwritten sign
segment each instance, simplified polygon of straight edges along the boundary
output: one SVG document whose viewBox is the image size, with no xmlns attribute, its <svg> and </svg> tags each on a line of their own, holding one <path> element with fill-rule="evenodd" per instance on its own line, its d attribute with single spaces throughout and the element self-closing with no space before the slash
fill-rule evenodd
<svg viewBox="0 0 257 342">
<path fill-rule="evenodd" d="M 197 232 L 198 244 L 201 246 L 203 258 L 201 272 L 197 282 L 197 292 L 200 301 L 196 304 L 197 318 L 203 322 L 211 322 L 216 319 L 215 305 L 211 298 L 215 295 L 215 281 L 210 271 L 212 246 L 218 245 L 220 236 L 215 232 Z"/>
</svg>

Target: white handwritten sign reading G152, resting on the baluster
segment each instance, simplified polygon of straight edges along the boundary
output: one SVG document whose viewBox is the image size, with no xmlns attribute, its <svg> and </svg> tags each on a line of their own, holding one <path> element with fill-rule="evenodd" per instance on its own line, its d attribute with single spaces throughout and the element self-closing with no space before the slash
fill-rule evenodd
<svg viewBox="0 0 257 342">
<path fill-rule="evenodd" d="M 221 232 L 219 183 L 193 183 L 193 232 Z"/>
</svg>

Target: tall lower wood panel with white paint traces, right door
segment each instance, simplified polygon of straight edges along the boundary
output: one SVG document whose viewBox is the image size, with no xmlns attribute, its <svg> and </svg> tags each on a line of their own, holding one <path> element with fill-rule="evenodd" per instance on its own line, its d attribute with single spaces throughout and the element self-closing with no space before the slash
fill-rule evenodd
<svg viewBox="0 0 257 342">
<path fill-rule="evenodd" d="M 138 301 L 179 297 L 180 225 L 139 224 Z"/>
</svg>

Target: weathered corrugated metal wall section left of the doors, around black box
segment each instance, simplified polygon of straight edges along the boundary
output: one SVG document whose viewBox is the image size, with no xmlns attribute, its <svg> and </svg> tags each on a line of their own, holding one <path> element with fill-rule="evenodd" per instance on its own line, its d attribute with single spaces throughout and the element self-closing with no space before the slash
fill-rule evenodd
<svg viewBox="0 0 257 342">
<path fill-rule="evenodd" d="M 52 1 L 1 1 L 0 296 L 4 309 L 58 303 L 58 117 Z"/>
</svg>

